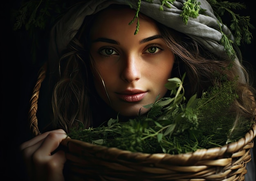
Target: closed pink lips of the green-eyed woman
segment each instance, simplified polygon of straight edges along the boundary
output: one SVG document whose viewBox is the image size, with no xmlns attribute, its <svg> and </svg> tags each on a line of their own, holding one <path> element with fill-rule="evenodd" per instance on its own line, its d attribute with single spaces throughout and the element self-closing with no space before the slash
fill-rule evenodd
<svg viewBox="0 0 256 181">
<path fill-rule="evenodd" d="M 127 89 L 123 92 L 118 92 L 117 96 L 126 102 L 138 102 L 141 101 L 147 92 L 137 89 Z"/>
</svg>

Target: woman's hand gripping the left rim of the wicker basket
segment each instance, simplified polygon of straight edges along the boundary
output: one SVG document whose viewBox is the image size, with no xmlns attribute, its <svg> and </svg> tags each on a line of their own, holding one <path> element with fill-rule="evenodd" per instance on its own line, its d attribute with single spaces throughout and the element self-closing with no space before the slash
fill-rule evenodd
<svg viewBox="0 0 256 181">
<path fill-rule="evenodd" d="M 65 152 L 56 148 L 65 138 L 64 130 L 54 130 L 20 145 L 31 181 L 64 181 Z"/>
</svg>

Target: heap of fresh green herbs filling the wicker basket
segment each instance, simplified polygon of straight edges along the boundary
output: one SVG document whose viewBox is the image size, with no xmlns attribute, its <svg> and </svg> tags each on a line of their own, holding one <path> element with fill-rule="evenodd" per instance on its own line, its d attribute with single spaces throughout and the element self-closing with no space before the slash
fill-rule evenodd
<svg viewBox="0 0 256 181">
<path fill-rule="evenodd" d="M 185 75 L 184 75 L 185 76 Z M 144 153 L 180 154 L 200 148 L 222 146 L 237 141 L 251 127 L 252 120 L 238 120 L 229 110 L 238 98 L 237 81 L 223 81 L 203 92 L 201 98 L 184 97 L 183 80 L 168 79 L 168 98 L 156 98 L 145 105 L 147 114 L 123 122 L 111 118 L 107 126 L 72 129 L 72 139 Z"/>
</svg>

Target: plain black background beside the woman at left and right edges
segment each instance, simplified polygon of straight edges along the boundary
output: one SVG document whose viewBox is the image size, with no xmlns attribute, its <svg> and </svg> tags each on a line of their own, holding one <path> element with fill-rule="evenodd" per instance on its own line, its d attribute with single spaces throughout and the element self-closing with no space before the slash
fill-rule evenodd
<svg viewBox="0 0 256 181">
<path fill-rule="evenodd" d="M 251 23 L 256 27 L 255 6 L 250 0 L 230 0 L 244 2 L 247 10 L 239 11 L 241 16 L 251 16 Z M 29 99 L 37 78 L 39 67 L 46 56 L 43 48 L 47 35 L 40 33 L 43 40 L 39 45 L 40 54 L 37 61 L 32 60 L 31 39 L 25 29 L 13 31 L 16 21 L 11 16 L 13 10 L 18 10 L 20 0 L 4 1 L 1 5 L 1 125 L 0 154 L 1 176 L 6 180 L 25 180 L 24 168 L 20 166 L 18 146 L 29 138 L 27 116 Z M 256 30 L 250 30 L 256 37 Z M 256 40 L 250 45 L 241 45 L 245 66 L 254 77 L 256 87 Z"/>
</svg>

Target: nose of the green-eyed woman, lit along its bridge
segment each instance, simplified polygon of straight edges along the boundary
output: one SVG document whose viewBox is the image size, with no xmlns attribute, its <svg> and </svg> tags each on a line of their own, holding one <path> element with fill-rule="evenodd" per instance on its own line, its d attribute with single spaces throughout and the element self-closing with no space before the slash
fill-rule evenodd
<svg viewBox="0 0 256 181">
<path fill-rule="evenodd" d="M 121 78 L 128 83 L 139 80 L 141 78 L 139 58 L 136 56 L 127 56 L 123 62 L 124 67 L 121 72 Z"/>
</svg>

